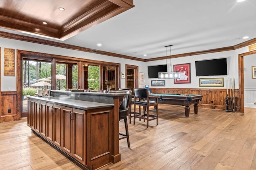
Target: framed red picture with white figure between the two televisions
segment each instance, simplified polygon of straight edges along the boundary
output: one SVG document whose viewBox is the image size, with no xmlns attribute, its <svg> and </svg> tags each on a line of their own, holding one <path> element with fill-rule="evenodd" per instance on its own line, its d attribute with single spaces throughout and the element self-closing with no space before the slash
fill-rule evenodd
<svg viewBox="0 0 256 170">
<path fill-rule="evenodd" d="M 174 65 L 173 70 L 180 72 L 180 78 L 175 78 L 174 84 L 191 83 L 190 63 Z"/>
</svg>

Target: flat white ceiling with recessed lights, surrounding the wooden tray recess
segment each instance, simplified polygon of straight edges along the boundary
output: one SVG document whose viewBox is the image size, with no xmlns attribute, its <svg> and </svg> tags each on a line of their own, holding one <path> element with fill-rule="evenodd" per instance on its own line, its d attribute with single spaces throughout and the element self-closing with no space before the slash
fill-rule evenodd
<svg viewBox="0 0 256 170">
<path fill-rule="evenodd" d="M 134 5 L 58 42 L 151 59 L 166 56 L 167 45 L 173 45 L 172 55 L 176 55 L 229 47 L 256 38 L 256 0 L 134 0 Z"/>
</svg>

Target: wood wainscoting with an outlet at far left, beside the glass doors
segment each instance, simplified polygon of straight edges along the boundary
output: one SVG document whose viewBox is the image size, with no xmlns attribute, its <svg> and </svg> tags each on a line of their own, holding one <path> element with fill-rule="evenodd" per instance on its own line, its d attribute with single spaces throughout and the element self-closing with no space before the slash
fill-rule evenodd
<svg viewBox="0 0 256 170">
<path fill-rule="evenodd" d="M 20 120 L 20 111 L 17 106 L 17 92 L 1 92 L 1 114 L 0 123 L 6 121 Z"/>
</svg>

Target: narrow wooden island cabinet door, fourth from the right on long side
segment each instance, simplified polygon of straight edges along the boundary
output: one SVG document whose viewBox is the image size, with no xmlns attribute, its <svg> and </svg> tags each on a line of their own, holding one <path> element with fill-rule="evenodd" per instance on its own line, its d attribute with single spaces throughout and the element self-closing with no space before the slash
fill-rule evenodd
<svg viewBox="0 0 256 170">
<path fill-rule="evenodd" d="M 51 103 L 46 103 L 46 139 L 53 143 L 54 131 L 54 107 Z"/>
</svg>

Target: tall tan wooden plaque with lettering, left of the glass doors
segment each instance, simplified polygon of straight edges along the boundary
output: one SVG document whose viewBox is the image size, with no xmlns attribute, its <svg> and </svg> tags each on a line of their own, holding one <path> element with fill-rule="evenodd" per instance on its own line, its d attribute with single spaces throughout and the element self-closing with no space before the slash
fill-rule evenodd
<svg viewBox="0 0 256 170">
<path fill-rule="evenodd" d="M 15 76 L 15 49 L 4 48 L 4 76 Z"/>
</svg>

